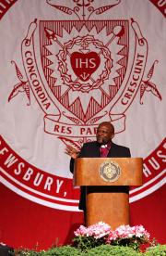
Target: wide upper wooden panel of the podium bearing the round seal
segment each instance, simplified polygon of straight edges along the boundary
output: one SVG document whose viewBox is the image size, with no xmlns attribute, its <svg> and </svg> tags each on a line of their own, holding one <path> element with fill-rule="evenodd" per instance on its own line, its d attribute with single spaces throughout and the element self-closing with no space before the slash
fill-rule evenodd
<svg viewBox="0 0 166 256">
<path fill-rule="evenodd" d="M 142 166 L 141 158 L 78 158 L 74 185 L 141 186 Z"/>
</svg>

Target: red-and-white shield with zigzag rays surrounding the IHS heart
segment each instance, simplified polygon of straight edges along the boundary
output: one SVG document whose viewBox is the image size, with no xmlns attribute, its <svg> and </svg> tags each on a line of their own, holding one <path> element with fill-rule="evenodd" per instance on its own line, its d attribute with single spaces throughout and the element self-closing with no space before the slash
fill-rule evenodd
<svg viewBox="0 0 166 256">
<path fill-rule="evenodd" d="M 118 92 L 127 66 L 128 54 L 128 24 L 127 21 L 41 21 L 41 63 L 45 78 L 53 92 L 53 96 L 65 109 L 74 114 L 82 123 L 87 123 L 97 113 L 104 109 Z M 98 24 L 99 23 L 99 24 Z M 106 57 L 100 47 L 90 44 L 86 47 L 72 44 L 77 38 L 93 38 L 110 54 L 110 70 L 104 74 L 104 79 L 99 87 L 93 88 L 92 84 L 100 80 L 101 73 L 106 66 Z M 72 69 L 71 55 L 75 52 L 95 52 L 100 56 L 101 63 L 87 82 L 81 81 Z M 63 56 L 63 58 L 60 58 Z M 64 66 L 60 69 L 61 60 Z M 63 79 L 64 70 L 66 80 Z M 66 71 L 66 72 L 65 72 Z M 89 83 L 89 90 L 74 89 L 65 81 L 78 81 L 80 86 Z"/>
</svg>

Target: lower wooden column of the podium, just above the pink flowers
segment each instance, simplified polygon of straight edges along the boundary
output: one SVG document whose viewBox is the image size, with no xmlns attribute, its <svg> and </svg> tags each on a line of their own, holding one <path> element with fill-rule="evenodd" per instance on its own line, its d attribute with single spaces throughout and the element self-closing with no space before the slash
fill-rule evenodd
<svg viewBox="0 0 166 256">
<path fill-rule="evenodd" d="M 104 222 L 116 229 L 129 224 L 129 198 L 127 193 L 87 192 L 87 226 Z"/>
</svg>

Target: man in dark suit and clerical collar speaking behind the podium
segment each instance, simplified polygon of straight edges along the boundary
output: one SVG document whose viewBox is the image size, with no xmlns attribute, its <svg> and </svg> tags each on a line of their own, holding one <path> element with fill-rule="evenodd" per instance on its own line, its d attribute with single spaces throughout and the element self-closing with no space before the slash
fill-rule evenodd
<svg viewBox="0 0 166 256">
<path fill-rule="evenodd" d="M 74 172 L 74 162 L 79 158 L 130 158 L 130 149 L 116 145 L 112 142 L 114 136 L 114 127 L 111 122 L 101 122 L 97 128 L 96 141 L 85 143 L 80 152 L 74 147 L 67 146 L 65 148 L 66 154 L 71 157 L 70 172 Z M 107 187 L 108 189 L 108 187 Z M 112 192 L 112 187 L 109 187 Z M 117 186 L 116 191 L 128 193 L 128 186 Z M 79 209 L 86 211 L 86 187 L 81 186 L 79 200 Z"/>
</svg>

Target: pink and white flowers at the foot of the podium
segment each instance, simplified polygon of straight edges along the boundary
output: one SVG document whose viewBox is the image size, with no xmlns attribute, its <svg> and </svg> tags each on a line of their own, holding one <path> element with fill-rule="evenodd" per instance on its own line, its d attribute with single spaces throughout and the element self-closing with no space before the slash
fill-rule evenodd
<svg viewBox="0 0 166 256">
<path fill-rule="evenodd" d="M 112 230 L 109 224 L 102 222 L 89 227 L 80 225 L 74 234 L 74 246 L 81 251 L 103 244 L 128 246 L 138 251 L 140 245 L 149 243 L 150 237 L 143 225 L 121 225 Z"/>
</svg>

